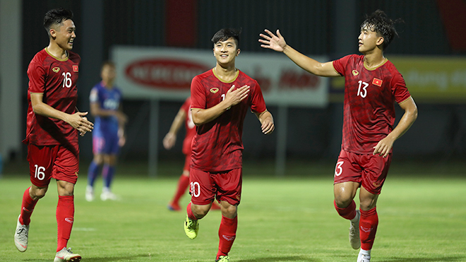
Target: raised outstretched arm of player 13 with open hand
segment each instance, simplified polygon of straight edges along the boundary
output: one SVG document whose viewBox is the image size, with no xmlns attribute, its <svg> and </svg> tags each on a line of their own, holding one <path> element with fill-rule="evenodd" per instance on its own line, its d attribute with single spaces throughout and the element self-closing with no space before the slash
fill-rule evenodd
<svg viewBox="0 0 466 262">
<path fill-rule="evenodd" d="M 333 68 L 333 63 L 331 61 L 325 63 L 318 62 L 290 47 L 287 42 L 285 42 L 285 38 L 280 34 L 280 30 L 277 30 L 277 35 L 274 35 L 273 32 L 267 29 L 265 29 L 265 32 L 268 35 L 259 35 L 263 38 L 259 39 L 259 42 L 262 43 L 261 47 L 286 54 L 294 64 L 297 64 L 301 69 L 313 73 L 316 76 L 340 76 Z"/>
</svg>

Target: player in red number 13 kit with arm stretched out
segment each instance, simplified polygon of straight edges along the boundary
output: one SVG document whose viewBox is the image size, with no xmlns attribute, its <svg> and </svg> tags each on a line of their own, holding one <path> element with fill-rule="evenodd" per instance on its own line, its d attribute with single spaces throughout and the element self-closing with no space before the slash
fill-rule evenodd
<svg viewBox="0 0 466 262">
<path fill-rule="evenodd" d="M 261 47 L 283 52 L 316 76 L 344 76 L 342 150 L 335 167 L 334 205 L 350 220 L 349 242 L 358 262 L 369 262 L 378 225 L 376 203 L 390 167 L 392 147 L 417 118 L 417 106 L 395 66 L 383 56 L 398 33 L 395 22 L 377 10 L 361 25 L 359 52 L 325 63 L 290 47 L 277 30 L 261 34 Z M 405 111 L 394 128 L 394 102 Z M 359 189 L 359 210 L 354 196 Z"/>
</svg>

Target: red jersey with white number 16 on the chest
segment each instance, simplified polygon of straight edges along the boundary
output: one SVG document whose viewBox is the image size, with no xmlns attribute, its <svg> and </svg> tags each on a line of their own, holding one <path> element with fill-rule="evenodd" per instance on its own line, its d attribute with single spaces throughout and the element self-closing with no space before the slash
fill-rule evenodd
<svg viewBox="0 0 466 262">
<path fill-rule="evenodd" d="M 47 49 L 42 49 L 30 61 L 27 130 L 23 143 L 61 145 L 78 142 L 78 131 L 73 126 L 32 111 L 30 93 L 43 93 L 42 101 L 45 104 L 68 114 L 75 113 L 80 60 L 80 56 L 73 52 L 68 51 L 66 59 L 58 59 Z"/>
</svg>

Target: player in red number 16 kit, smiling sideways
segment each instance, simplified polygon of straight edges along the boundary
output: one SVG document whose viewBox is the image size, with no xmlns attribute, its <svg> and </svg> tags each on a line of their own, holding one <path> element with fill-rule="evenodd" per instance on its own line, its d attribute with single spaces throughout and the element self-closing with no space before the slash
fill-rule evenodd
<svg viewBox="0 0 466 262">
<path fill-rule="evenodd" d="M 28 117 L 23 143 L 28 145 L 31 186 L 23 193 L 23 203 L 14 240 L 19 251 L 28 248 L 30 216 L 44 197 L 50 179 L 56 179 L 59 194 L 56 206 L 58 243 L 54 262 L 80 261 L 68 249 L 74 220 L 74 184 L 79 172 L 78 133 L 92 131 L 93 124 L 78 112 L 76 81 L 80 56 L 71 52 L 76 38 L 73 12 L 64 8 L 48 11 L 44 28 L 48 47 L 38 52 L 28 66 Z"/>
</svg>

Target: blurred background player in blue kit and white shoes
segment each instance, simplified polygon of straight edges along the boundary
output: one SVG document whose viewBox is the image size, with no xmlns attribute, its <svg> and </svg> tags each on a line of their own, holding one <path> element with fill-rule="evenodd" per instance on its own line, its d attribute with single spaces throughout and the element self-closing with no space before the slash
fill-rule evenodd
<svg viewBox="0 0 466 262">
<path fill-rule="evenodd" d="M 117 73 L 111 61 L 105 61 L 100 71 L 102 81 L 90 90 L 90 114 L 95 117 L 92 132 L 92 151 L 94 158 L 88 170 L 88 186 L 85 199 L 93 201 L 94 182 L 102 169 L 102 201 L 117 200 L 110 190 L 117 165 L 119 149 L 125 143 L 124 125 L 126 115 L 121 109 L 121 91 L 114 85 Z"/>
</svg>

